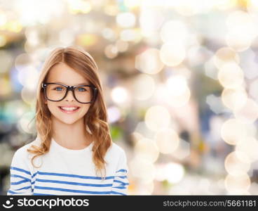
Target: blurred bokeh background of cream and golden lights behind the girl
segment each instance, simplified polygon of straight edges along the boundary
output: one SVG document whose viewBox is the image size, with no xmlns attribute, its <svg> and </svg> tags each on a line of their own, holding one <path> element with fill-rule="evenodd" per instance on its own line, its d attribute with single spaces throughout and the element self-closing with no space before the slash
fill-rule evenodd
<svg viewBox="0 0 258 211">
<path fill-rule="evenodd" d="M 95 58 L 130 195 L 258 194 L 258 1 L 1 0 L 0 193 L 57 46 Z"/>
</svg>

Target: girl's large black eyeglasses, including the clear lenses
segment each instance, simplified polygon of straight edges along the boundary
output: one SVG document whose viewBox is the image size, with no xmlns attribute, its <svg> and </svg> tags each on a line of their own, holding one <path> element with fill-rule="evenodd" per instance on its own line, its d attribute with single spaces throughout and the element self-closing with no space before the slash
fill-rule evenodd
<svg viewBox="0 0 258 211">
<path fill-rule="evenodd" d="M 74 98 L 79 103 L 93 103 L 97 98 L 97 88 L 88 84 L 67 86 L 58 83 L 42 83 L 41 87 L 48 101 L 62 101 L 67 96 L 69 90 L 72 91 Z"/>
</svg>

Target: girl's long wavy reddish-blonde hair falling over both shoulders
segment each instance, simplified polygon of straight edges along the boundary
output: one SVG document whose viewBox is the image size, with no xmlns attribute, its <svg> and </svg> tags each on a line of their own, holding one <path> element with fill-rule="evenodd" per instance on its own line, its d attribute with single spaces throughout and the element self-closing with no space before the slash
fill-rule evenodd
<svg viewBox="0 0 258 211">
<path fill-rule="evenodd" d="M 53 135 L 51 122 L 51 113 L 47 105 L 44 103 L 45 96 L 43 94 L 42 82 L 45 82 L 48 77 L 49 70 L 57 63 L 65 63 L 70 68 L 73 68 L 80 75 L 88 79 L 90 85 L 97 88 L 97 96 L 95 101 L 90 105 L 88 112 L 84 116 L 84 125 L 86 134 L 93 139 L 93 162 L 95 164 L 96 174 L 100 173 L 102 179 L 106 177 L 104 155 L 111 146 L 111 135 L 109 125 L 107 123 L 107 107 L 104 103 L 102 94 L 102 84 L 98 76 L 98 68 L 92 56 L 78 46 L 68 46 L 66 48 L 57 47 L 46 58 L 41 70 L 39 83 L 36 90 L 36 131 L 41 139 L 40 146 L 32 145 L 27 149 L 29 153 L 35 154 L 34 158 L 48 153 L 50 149 L 50 141 Z M 102 174 L 104 170 L 104 177 Z"/>
</svg>

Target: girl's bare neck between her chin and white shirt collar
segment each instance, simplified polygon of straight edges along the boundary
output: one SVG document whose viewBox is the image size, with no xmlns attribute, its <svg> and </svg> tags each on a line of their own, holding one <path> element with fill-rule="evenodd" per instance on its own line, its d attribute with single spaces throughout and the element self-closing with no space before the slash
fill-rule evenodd
<svg viewBox="0 0 258 211">
<path fill-rule="evenodd" d="M 86 127 L 81 120 L 74 124 L 65 124 L 55 117 L 53 122 L 53 139 L 61 146 L 73 150 L 85 148 L 91 143 L 90 134 L 86 131 Z"/>
</svg>

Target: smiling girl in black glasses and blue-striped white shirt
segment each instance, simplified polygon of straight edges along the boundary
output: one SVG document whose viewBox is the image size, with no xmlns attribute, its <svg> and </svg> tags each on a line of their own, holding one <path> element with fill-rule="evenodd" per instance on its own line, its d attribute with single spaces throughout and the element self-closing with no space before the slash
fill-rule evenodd
<svg viewBox="0 0 258 211">
<path fill-rule="evenodd" d="M 13 155 L 7 195 L 126 195 L 125 152 L 112 143 L 98 68 L 78 47 L 46 59 L 34 141 Z"/>
</svg>

